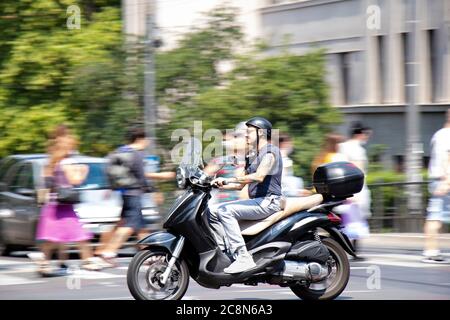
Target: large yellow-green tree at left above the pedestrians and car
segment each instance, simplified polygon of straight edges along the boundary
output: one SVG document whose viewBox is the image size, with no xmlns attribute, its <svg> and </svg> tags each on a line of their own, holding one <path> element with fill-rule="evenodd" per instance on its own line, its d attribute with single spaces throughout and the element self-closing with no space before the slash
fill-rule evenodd
<svg viewBox="0 0 450 320">
<path fill-rule="evenodd" d="M 74 4 L 81 29 L 69 30 L 66 10 Z M 42 141 L 58 121 L 75 129 L 82 152 L 103 155 L 121 143 L 140 108 L 120 1 L 4 1 L 0 10 L 0 156 L 44 151 Z M 39 130 L 20 131 L 34 125 Z"/>
</svg>

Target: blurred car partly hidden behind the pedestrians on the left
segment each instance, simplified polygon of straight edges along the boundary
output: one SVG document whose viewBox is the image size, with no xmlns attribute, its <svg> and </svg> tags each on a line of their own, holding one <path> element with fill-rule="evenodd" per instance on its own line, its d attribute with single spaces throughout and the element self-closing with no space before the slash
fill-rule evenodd
<svg viewBox="0 0 450 320">
<path fill-rule="evenodd" d="M 89 166 L 87 178 L 77 187 L 81 190 L 81 203 L 75 205 L 75 211 L 84 228 L 98 238 L 119 221 L 121 196 L 109 187 L 106 159 L 81 155 L 71 159 Z M 42 170 L 46 163 L 44 154 L 13 155 L 0 162 L 0 254 L 36 245 L 41 209 L 37 194 L 44 185 Z M 161 228 L 161 217 L 150 194 L 142 197 L 142 213 L 150 230 Z"/>
</svg>

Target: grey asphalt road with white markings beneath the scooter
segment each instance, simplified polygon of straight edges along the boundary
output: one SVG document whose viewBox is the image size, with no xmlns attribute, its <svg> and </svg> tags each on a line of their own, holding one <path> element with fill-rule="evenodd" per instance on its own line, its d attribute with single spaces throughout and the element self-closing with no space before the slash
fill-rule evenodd
<svg viewBox="0 0 450 320">
<path fill-rule="evenodd" d="M 351 262 L 351 278 L 338 299 L 450 300 L 450 264 L 425 264 L 420 252 L 381 250 L 362 252 L 362 262 Z M 444 252 L 450 260 L 450 251 Z M 0 300 L 131 300 L 126 271 L 129 257 L 119 267 L 101 272 L 77 271 L 76 277 L 41 278 L 25 253 L 0 258 Z M 73 267 L 79 261 L 71 260 Z M 379 275 L 379 277 L 377 277 Z M 297 299 L 288 289 L 261 284 L 206 289 L 191 279 L 185 300 Z"/>
</svg>

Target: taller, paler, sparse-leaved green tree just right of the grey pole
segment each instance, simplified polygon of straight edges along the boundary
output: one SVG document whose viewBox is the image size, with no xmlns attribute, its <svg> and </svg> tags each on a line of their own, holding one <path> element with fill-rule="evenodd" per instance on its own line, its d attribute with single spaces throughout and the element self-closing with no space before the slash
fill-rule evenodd
<svg viewBox="0 0 450 320">
<path fill-rule="evenodd" d="M 207 24 L 193 28 L 175 49 L 157 53 L 158 103 L 171 111 L 170 121 L 158 128 L 161 145 L 171 144 L 174 129 L 193 124 L 190 111 L 196 108 L 195 97 L 225 79 L 218 64 L 234 59 L 233 50 L 242 41 L 236 14 L 236 8 L 218 6 L 206 13 Z"/>
</svg>

